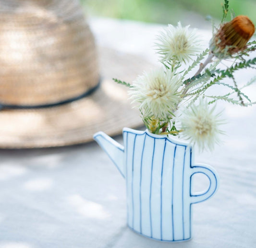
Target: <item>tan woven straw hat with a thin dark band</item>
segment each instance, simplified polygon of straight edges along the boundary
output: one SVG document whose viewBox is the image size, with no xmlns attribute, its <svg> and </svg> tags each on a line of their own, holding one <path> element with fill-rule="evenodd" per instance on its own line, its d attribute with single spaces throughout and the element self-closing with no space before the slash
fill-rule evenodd
<svg viewBox="0 0 256 248">
<path fill-rule="evenodd" d="M 78 0 L 0 0 L 0 147 L 73 145 L 142 125 L 112 78 L 149 65 L 98 54 Z"/>
</svg>

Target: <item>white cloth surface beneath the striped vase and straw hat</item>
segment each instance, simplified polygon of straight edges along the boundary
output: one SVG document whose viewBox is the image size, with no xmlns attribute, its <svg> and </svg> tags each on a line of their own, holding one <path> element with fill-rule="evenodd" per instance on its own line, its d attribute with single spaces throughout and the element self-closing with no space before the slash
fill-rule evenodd
<svg viewBox="0 0 256 248">
<path fill-rule="evenodd" d="M 150 49 L 160 26 L 108 19 L 91 20 L 91 25 L 98 44 L 108 45 L 112 37 L 115 45 L 111 46 L 118 51 L 134 51 L 156 62 Z M 111 27 L 108 32 L 106 27 Z M 206 40 L 210 37 L 210 31 L 200 32 Z M 124 48 L 128 37 L 133 42 Z M 248 70 L 237 75 L 239 83 L 254 73 Z M 247 93 L 255 99 L 256 87 Z M 195 151 L 196 163 L 217 170 L 220 187 L 214 197 L 193 205 L 192 240 L 161 243 L 131 231 L 126 225 L 125 181 L 92 142 L 0 150 L 0 248 L 255 247 L 256 106 L 223 103 L 222 107 L 228 119 L 223 125 L 225 143 L 212 153 Z M 116 140 L 122 143 L 121 136 Z M 194 177 L 195 192 L 208 187 L 204 175 Z"/>
</svg>

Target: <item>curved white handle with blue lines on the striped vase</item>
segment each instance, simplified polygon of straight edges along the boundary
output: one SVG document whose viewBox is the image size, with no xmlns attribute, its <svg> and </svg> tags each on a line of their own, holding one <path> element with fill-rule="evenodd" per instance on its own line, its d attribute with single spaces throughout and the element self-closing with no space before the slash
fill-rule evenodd
<svg viewBox="0 0 256 248">
<path fill-rule="evenodd" d="M 191 181 L 192 181 L 192 176 L 195 173 L 203 173 L 205 174 L 209 181 L 210 185 L 207 191 L 205 192 L 196 192 L 192 194 L 191 192 Z M 190 176 L 190 199 L 191 203 L 200 203 L 204 202 L 207 199 L 209 199 L 211 196 L 213 196 L 219 188 L 219 176 L 218 173 L 209 165 L 205 164 L 198 164 L 194 167 L 191 168 L 191 176 Z"/>
</svg>

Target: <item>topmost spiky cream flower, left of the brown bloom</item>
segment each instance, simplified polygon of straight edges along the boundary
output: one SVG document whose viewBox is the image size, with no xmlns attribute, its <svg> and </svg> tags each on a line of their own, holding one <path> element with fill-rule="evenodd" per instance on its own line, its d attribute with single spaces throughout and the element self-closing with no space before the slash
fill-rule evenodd
<svg viewBox="0 0 256 248">
<path fill-rule="evenodd" d="M 182 27 L 179 22 L 177 27 L 168 25 L 157 36 L 158 54 L 161 55 L 161 61 L 178 60 L 179 62 L 188 62 L 191 56 L 198 55 L 201 52 L 200 39 L 196 35 L 195 29 L 189 29 L 189 25 Z"/>
</svg>

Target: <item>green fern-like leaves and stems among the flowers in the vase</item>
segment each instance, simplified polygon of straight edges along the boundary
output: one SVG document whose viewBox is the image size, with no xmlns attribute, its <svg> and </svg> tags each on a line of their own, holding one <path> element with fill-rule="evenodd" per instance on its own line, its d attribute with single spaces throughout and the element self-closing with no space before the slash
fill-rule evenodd
<svg viewBox="0 0 256 248">
<path fill-rule="evenodd" d="M 222 11 L 223 16 L 220 23 L 220 26 L 226 21 L 227 14 L 229 11 L 229 0 L 223 0 L 222 4 Z M 231 9 L 230 10 L 231 19 L 235 18 L 235 13 Z M 212 18 L 209 18 L 209 20 L 212 21 Z M 217 28 L 213 24 L 213 33 L 216 33 L 215 31 Z M 217 30 L 218 31 L 218 30 Z M 219 35 L 219 33 L 217 33 Z M 213 39 L 218 38 L 218 35 L 213 34 Z M 214 36 L 215 35 L 215 36 Z M 211 43 L 210 43 L 211 44 Z M 225 101 L 232 104 L 240 105 L 240 106 L 250 106 L 253 104 L 256 104 L 256 101 L 252 101 L 244 92 L 243 89 L 245 87 L 248 87 L 256 82 L 256 76 L 250 79 L 246 84 L 244 84 L 242 87 L 238 85 L 236 79 L 235 79 L 235 72 L 246 69 L 246 68 L 256 68 L 256 57 L 249 58 L 249 54 L 253 51 L 256 51 L 256 41 L 250 41 L 247 43 L 246 47 L 244 47 L 244 50 L 238 50 L 238 52 L 232 56 L 227 54 L 227 57 L 224 56 L 222 58 L 218 58 L 217 54 L 214 52 L 212 45 L 210 45 L 210 49 L 206 49 L 203 51 L 200 55 L 198 55 L 194 61 L 192 61 L 188 66 L 182 67 L 182 61 L 179 61 L 177 57 L 173 57 L 170 61 L 160 61 L 162 63 L 162 67 L 164 67 L 164 73 L 166 71 L 171 71 L 172 75 L 178 75 L 178 78 L 182 80 L 182 85 L 180 87 L 180 84 L 177 85 L 178 89 L 175 94 L 177 95 L 177 102 L 172 105 L 172 109 L 167 108 L 165 109 L 165 117 L 156 118 L 154 117 L 153 111 L 146 111 L 150 110 L 148 102 L 145 102 L 146 107 L 139 108 L 139 111 L 141 113 L 141 117 L 144 121 L 144 124 L 146 125 L 146 128 L 150 130 L 154 134 L 166 134 L 166 135 L 179 135 L 180 132 L 185 131 L 180 129 L 178 130 L 175 127 L 175 121 L 182 121 L 180 120 L 180 116 L 182 116 L 183 113 L 179 113 L 179 115 L 175 116 L 178 109 L 182 112 L 182 107 L 187 108 L 194 108 L 195 102 L 197 100 L 201 99 L 207 99 L 208 104 L 215 103 L 216 101 Z M 231 46 L 226 45 L 225 48 L 223 48 L 223 53 L 225 51 L 228 51 L 228 49 L 231 48 Z M 222 49 L 222 48 L 221 48 Z M 161 54 L 161 52 L 159 53 Z M 163 53 L 162 53 L 163 54 Z M 232 65 L 227 65 L 226 62 L 232 62 Z M 219 67 L 220 64 L 222 64 L 225 67 Z M 191 77 L 191 72 L 193 69 L 198 68 L 195 75 Z M 161 101 L 161 97 L 164 96 L 168 101 L 174 101 L 175 99 L 171 97 L 166 96 L 166 90 L 168 87 L 165 85 L 168 83 L 168 81 L 171 81 L 172 78 L 168 79 L 168 81 L 160 82 L 159 78 L 152 78 L 150 80 L 152 81 L 152 85 L 156 84 L 156 87 L 154 88 L 151 84 L 150 91 L 147 94 L 148 99 L 146 101 L 152 101 L 154 106 L 156 106 L 157 101 Z M 231 80 L 228 80 L 231 79 Z M 125 81 L 119 80 L 119 79 L 113 79 L 115 82 L 125 85 L 126 87 L 132 88 L 133 85 L 130 83 L 127 83 Z M 230 83 L 228 82 L 230 81 Z M 150 81 L 151 83 L 151 81 Z M 161 84 L 158 84 L 161 83 Z M 178 81 L 180 83 L 180 81 Z M 147 87 L 148 85 L 146 85 Z M 219 88 L 219 92 L 217 95 L 211 95 L 209 88 L 217 86 L 216 88 Z M 152 89 L 151 89 L 152 88 Z M 223 91 L 221 91 L 223 90 Z M 154 97 L 152 97 L 151 92 L 155 92 Z M 219 94 L 219 95 L 218 95 Z M 139 102 L 141 101 L 142 97 L 139 97 Z M 152 99 L 150 99 L 152 98 Z M 200 99 L 200 104 L 201 104 Z M 166 101 L 166 100 L 164 100 Z M 165 102 L 163 104 L 166 104 Z M 200 104 L 198 105 L 200 107 Z M 141 105 L 144 106 L 144 105 Z M 200 109 L 199 109 L 200 110 Z M 159 109 L 159 111 L 162 111 L 162 106 Z M 148 113 L 147 113 L 148 112 Z M 201 112 L 201 111 L 200 111 Z M 187 119 L 187 118 L 186 118 Z M 175 120 L 175 121 L 174 121 Z"/>
</svg>

